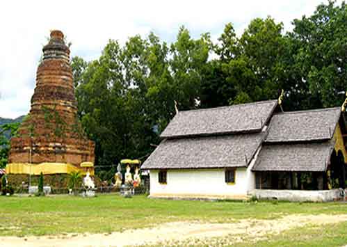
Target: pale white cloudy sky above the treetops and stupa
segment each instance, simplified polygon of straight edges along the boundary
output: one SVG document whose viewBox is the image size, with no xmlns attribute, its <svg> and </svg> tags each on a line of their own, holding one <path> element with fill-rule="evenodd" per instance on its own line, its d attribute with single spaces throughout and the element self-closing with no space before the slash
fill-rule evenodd
<svg viewBox="0 0 347 247">
<path fill-rule="evenodd" d="M 209 32 L 216 40 L 229 22 L 241 34 L 255 17 L 270 15 L 290 31 L 293 19 L 312 15 L 320 3 L 328 1 L 1 1 L 0 117 L 29 112 L 36 68 L 50 30 L 63 31 L 72 42 L 71 55 L 90 61 L 100 56 L 109 39 L 124 44 L 133 35 L 145 37 L 153 31 L 172 42 L 182 25 L 193 38 Z"/>
</svg>

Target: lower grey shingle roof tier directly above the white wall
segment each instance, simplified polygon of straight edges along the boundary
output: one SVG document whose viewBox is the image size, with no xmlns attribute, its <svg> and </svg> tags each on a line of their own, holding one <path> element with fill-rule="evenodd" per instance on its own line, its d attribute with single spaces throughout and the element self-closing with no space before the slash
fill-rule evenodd
<svg viewBox="0 0 347 247">
<path fill-rule="evenodd" d="M 246 167 L 260 147 L 264 135 L 265 132 L 166 139 L 141 168 Z"/>
</svg>

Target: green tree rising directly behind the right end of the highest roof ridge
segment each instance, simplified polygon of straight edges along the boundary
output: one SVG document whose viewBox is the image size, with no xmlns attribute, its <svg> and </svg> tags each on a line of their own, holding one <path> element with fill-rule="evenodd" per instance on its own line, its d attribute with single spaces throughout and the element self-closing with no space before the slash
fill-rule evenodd
<svg viewBox="0 0 347 247">
<path fill-rule="evenodd" d="M 271 17 L 253 19 L 241 36 L 242 54 L 247 58 L 248 67 L 255 74 L 252 100 L 273 99 L 283 88 L 284 65 L 282 58 L 285 50 L 282 35 L 283 24 L 276 24 Z M 243 86 L 244 88 L 244 86 Z"/>
</svg>

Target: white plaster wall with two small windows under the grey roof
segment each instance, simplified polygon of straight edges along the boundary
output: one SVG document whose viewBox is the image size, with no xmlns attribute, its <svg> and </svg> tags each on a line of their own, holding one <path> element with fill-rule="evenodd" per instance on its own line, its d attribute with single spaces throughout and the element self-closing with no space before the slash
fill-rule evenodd
<svg viewBox="0 0 347 247">
<path fill-rule="evenodd" d="M 159 170 L 151 170 L 150 196 L 191 198 L 245 198 L 255 189 L 255 177 L 248 168 L 236 168 L 235 183 L 225 183 L 225 169 L 167 170 L 167 184 L 159 184 Z"/>
</svg>

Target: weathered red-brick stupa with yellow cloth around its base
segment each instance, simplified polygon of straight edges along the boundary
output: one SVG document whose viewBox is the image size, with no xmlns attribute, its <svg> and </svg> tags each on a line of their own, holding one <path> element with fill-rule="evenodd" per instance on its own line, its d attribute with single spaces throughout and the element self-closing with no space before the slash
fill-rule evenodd
<svg viewBox="0 0 347 247">
<path fill-rule="evenodd" d="M 94 173 L 94 143 L 77 116 L 70 49 L 61 31 L 51 31 L 42 49 L 31 110 L 11 139 L 8 173 Z"/>
</svg>

